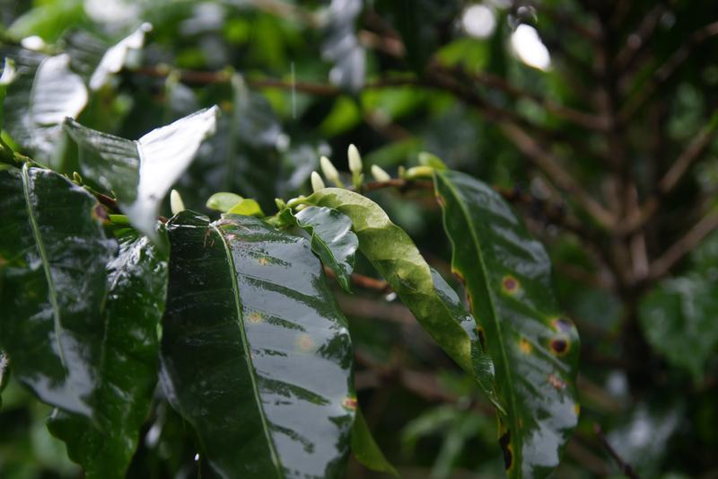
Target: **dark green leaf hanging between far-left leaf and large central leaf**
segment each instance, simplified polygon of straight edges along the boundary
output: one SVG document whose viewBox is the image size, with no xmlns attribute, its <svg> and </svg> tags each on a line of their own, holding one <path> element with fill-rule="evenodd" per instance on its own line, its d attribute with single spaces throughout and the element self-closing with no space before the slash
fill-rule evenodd
<svg viewBox="0 0 718 479">
<path fill-rule="evenodd" d="M 129 228 L 120 230 L 118 243 L 118 254 L 107 265 L 101 357 L 88 399 L 92 418 L 56 411 L 48 422 L 88 478 L 125 477 L 157 384 L 166 253 Z"/>
</svg>

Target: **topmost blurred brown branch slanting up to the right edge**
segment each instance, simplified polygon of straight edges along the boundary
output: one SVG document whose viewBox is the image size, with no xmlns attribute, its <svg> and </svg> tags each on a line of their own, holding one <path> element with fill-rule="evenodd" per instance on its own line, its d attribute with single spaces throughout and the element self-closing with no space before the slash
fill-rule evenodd
<svg viewBox="0 0 718 479">
<path fill-rule="evenodd" d="M 670 79 L 671 75 L 676 73 L 676 70 L 690 57 L 696 47 L 715 35 L 718 35 L 718 22 L 709 23 L 700 30 L 695 31 L 661 67 L 658 67 L 652 78 L 641 86 L 638 93 L 626 102 L 618 114 L 618 120 L 621 123 L 626 123 L 626 121 L 643 106 L 644 102 L 646 102 L 653 93 L 656 93 L 658 88 Z"/>
</svg>

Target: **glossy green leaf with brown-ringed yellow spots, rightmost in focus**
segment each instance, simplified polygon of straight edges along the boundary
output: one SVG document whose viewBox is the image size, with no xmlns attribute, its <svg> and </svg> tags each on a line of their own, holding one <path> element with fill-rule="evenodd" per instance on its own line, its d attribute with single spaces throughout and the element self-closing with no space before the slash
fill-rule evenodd
<svg viewBox="0 0 718 479">
<path fill-rule="evenodd" d="M 436 172 L 435 185 L 451 268 L 494 360 L 508 474 L 546 476 L 578 421 L 578 333 L 556 304 L 546 251 L 501 196 L 464 173 Z"/>
</svg>

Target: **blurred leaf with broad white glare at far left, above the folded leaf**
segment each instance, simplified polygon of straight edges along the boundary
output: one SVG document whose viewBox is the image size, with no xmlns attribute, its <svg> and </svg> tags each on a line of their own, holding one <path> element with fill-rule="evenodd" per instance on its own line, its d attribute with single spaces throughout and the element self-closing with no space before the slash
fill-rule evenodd
<svg viewBox="0 0 718 479">
<path fill-rule="evenodd" d="M 8 88 L 4 101 L 6 128 L 23 153 L 56 165 L 62 122 L 83 111 L 87 88 L 64 53 L 47 58 L 22 49 L 9 53 L 18 63 L 20 78 Z"/>
</svg>

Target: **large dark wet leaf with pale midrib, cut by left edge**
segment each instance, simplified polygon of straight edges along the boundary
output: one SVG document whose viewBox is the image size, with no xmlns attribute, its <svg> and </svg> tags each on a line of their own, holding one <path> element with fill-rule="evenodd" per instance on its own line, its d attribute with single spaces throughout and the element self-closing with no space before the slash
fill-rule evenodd
<svg viewBox="0 0 718 479">
<path fill-rule="evenodd" d="M 97 201 L 57 173 L 0 172 L 0 347 L 39 398 L 92 417 L 106 297 Z"/>
</svg>

